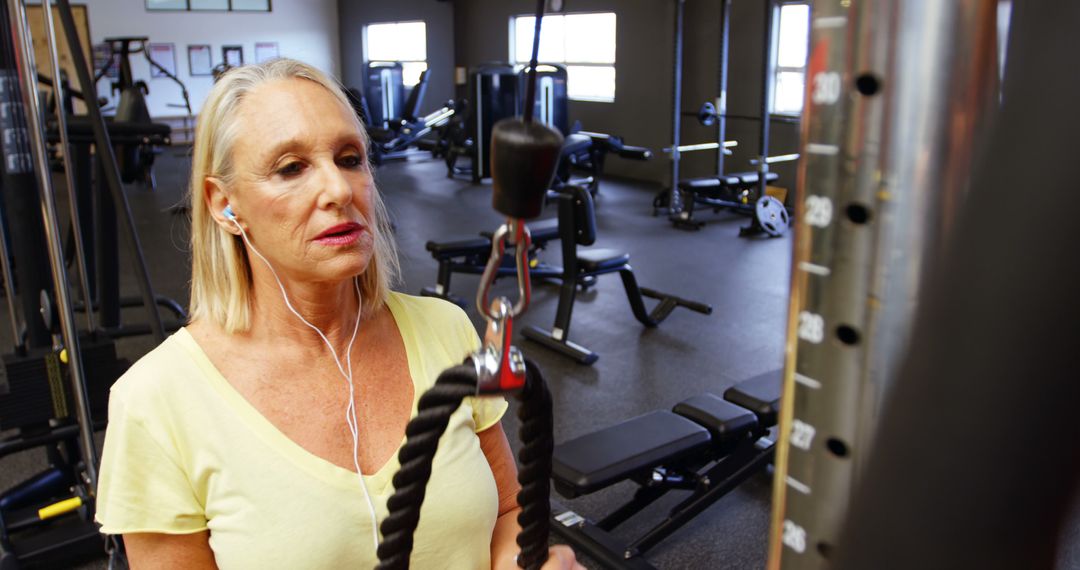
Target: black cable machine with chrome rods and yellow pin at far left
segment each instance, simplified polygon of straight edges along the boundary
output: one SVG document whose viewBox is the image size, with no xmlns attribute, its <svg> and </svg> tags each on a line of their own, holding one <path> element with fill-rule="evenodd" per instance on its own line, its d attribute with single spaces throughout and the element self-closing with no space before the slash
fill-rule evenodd
<svg viewBox="0 0 1080 570">
<path fill-rule="evenodd" d="M 58 0 L 57 8 L 80 92 L 84 96 L 93 94 L 94 78 L 78 41 L 71 6 L 67 0 Z M 52 14 L 51 0 L 43 0 L 42 9 L 45 14 Z M 43 21 L 53 77 L 62 78 L 53 18 L 44 17 Z M 165 329 L 156 307 L 160 299 L 150 284 L 134 219 L 121 186 L 113 147 L 137 140 L 131 140 L 132 133 L 124 130 L 126 125 L 122 122 L 107 125 L 102 109 L 92 97 L 86 101 L 87 117 L 69 121 L 73 118 L 65 112 L 69 106 L 64 104 L 67 85 L 63 78 L 53 82 L 57 104 L 52 110 L 56 117 L 55 123 L 49 124 L 37 93 L 38 77 L 24 0 L 6 0 L 0 4 L 0 26 L 3 27 L 0 103 L 4 107 L 0 195 L 5 206 L 4 218 L 11 223 L 11 252 L 16 261 L 12 263 L 9 259 L 9 244 L 4 243 L 0 264 L 11 311 L 14 352 L 3 355 L 0 368 L 5 380 L 4 390 L 0 392 L 0 430 L 17 431 L 0 440 L 0 458 L 44 448 L 49 459 L 48 469 L 0 492 L 0 568 L 13 570 L 24 564 L 63 567 L 68 566 L 72 557 L 102 553 L 103 540 L 93 521 L 98 462 L 94 432 L 105 424 L 108 386 L 127 365 L 117 357 L 112 341 L 112 336 L 123 331 L 94 322 L 95 295 L 89 285 L 86 253 L 82 245 L 85 228 L 80 226 L 80 220 L 90 217 L 85 212 L 80 215 L 79 211 L 89 193 L 84 178 L 89 178 L 90 145 L 94 147 L 98 184 L 105 196 L 96 217 L 107 218 L 108 221 L 102 225 L 111 228 L 113 247 L 117 233 L 126 242 L 141 304 L 149 317 L 149 330 L 160 341 L 164 340 Z M 82 288 L 85 329 L 76 324 L 77 306 L 69 293 L 60 215 L 51 176 L 50 141 L 57 145 L 70 194 L 71 238 Z M 80 184 L 76 184 L 77 177 Z M 2 231 L 0 235 L 6 236 Z M 103 249 L 99 257 L 110 255 L 114 260 L 116 253 L 109 254 L 107 249 Z M 102 273 L 99 271 L 98 276 Z M 17 309 L 22 309 L 22 317 Z M 103 308 L 103 325 L 108 324 L 108 312 Z M 104 544 L 106 549 L 111 549 L 111 540 Z"/>
</svg>

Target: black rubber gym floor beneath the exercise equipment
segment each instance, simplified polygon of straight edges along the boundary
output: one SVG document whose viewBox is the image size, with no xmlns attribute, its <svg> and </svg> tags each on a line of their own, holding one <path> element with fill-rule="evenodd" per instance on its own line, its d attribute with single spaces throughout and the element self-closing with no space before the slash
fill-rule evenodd
<svg viewBox="0 0 1080 570">
<path fill-rule="evenodd" d="M 139 236 L 157 293 L 186 304 L 188 296 L 187 222 L 170 213 L 184 199 L 189 163 L 185 151 L 171 149 L 156 166 L 158 189 L 127 188 Z M 436 264 L 424 250 L 428 240 L 469 238 L 491 230 L 500 218 L 490 207 L 489 184 L 474 186 L 450 179 L 442 162 L 418 155 L 380 168 L 378 182 L 396 225 L 403 282 L 400 289 L 417 294 L 435 281 Z M 540 364 L 555 399 L 555 438 L 562 442 L 653 409 L 671 408 L 689 396 L 721 393 L 727 386 L 781 365 L 787 307 L 791 236 L 771 240 L 737 238 L 745 218 L 703 213 L 710 223 L 701 231 L 675 230 L 651 216 L 657 189 L 632 181 L 605 180 L 596 212 L 597 246 L 624 249 L 643 286 L 700 300 L 713 306 L 704 316 L 676 310 L 657 329 L 634 320 L 615 275 L 600 277 L 596 287 L 579 295 L 570 339 L 594 350 L 599 361 L 577 365 L 517 339 L 526 354 Z M 554 212 L 550 213 L 551 216 Z M 122 243 L 122 242 L 121 242 Z M 545 255 L 558 262 L 558 252 Z M 121 247 L 124 295 L 137 295 L 131 261 Z M 455 275 L 454 291 L 472 299 L 478 277 Z M 512 284 L 497 291 L 513 296 Z M 538 286 L 534 304 L 521 323 L 550 328 L 557 303 L 554 286 Z M 0 341 L 11 345 L 6 308 L 0 306 Z M 482 320 L 470 308 L 473 321 Z M 140 309 L 127 309 L 125 322 L 145 322 Z M 137 358 L 152 347 L 149 337 L 123 339 L 123 355 Z M 517 421 L 508 413 L 503 423 L 514 442 Z M 0 460 L 0 489 L 6 489 L 45 466 L 41 451 Z M 659 568 L 751 569 L 765 565 L 771 478 L 759 474 L 720 500 L 673 537 L 650 551 Z M 586 516 L 598 516 L 629 498 L 632 485 L 573 501 L 563 501 Z M 640 533 L 659 520 L 677 497 L 652 505 L 623 525 L 620 537 Z M 1067 534 L 1070 545 L 1062 568 L 1080 568 L 1080 528 Z M 302 547 L 299 546 L 298 547 Z M 597 568 L 583 560 L 589 568 Z M 93 561 L 79 568 L 105 568 Z"/>
</svg>

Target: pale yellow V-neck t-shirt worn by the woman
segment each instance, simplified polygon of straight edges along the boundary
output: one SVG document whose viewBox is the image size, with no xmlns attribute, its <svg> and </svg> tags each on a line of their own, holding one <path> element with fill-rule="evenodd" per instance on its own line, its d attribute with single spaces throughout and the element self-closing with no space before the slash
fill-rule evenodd
<svg viewBox="0 0 1080 570">
<path fill-rule="evenodd" d="M 438 374 L 480 339 L 448 302 L 391 294 L 388 304 L 408 355 L 415 416 Z M 414 568 L 490 568 L 499 498 L 475 433 L 505 409 L 503 398 L 467 398 L 451 417 L 421 508 Z M 364 476 L 380 521 L 397 467 L 395 453 Z M 378 561 L 356 474 L 274 428 L 186 329 L 112 386 L 97 499 L 105 533 L 210 529 L 217 565 L 227 570 L 368 569 Z"/>
</svg>

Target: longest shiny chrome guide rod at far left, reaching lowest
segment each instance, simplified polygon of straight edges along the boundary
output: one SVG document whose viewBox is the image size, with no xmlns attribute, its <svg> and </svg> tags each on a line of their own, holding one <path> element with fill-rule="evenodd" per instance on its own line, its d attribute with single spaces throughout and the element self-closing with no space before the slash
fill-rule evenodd
<svg viewBox="0 0 1080 570">
<path fill-rule="evenodd" d="M 45 2 L 45 18 L 52 12 Z M 66 268 L 64 267 L 64 248 L 60 243 L 60 229 L 56 214 L 56 196 L 49 171 L 49 155 L 45 149 L 45 130 L 41 122 L 41 105 L 37 90 L 37 68 L 33 65 L 33 44 L 30 39 L 26 18 L 26 4 L 23 0 L 8 0 L 8 10 L 12 15 L 12 38 L 15 40 L 15 56 L 19 78 L 23 82 L 23 104 L 26 106 L 27 131 L 30 135 L 30 152 L 33 155 L 33 169 L 38 179 L 39 196 L 41 199 L 41 215 L 45 226 L 45 242 L 49 246 L 49 261 L 52 266 L 53 287 L 56 295 L 56 313 L 60 322 L 60 335 L 68 355 L 68 371 L 71 379 L 71 393 L 76 401 L 76 417 L 79 422 L 79 444 L 83 453 L 83 469 L 89 479 L 90 488 L 97 487 L 97 447 L 94 444 L 94 424 L 90 416 L 90 399 L 86 396 L 86 382 L 82 368 L 82 352 L 79 350 L 79 331 L 75 325 L 75 313 L 71 310 L 71 297 L 68 291 Z M 50 52 L 55 57 L 56 45 L 50 43 Z"/>
</svg>

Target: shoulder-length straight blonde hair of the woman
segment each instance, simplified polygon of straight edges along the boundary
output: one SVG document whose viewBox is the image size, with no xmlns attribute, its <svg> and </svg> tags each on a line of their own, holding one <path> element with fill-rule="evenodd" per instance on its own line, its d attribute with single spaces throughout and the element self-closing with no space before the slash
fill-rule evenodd
<svg viewBox="0 0 1080 570">
<path fill-rule="evenodd" d="M 238 136 L 239 109 L 245 96 L 259 85 L 284 79 L 305 79 L 326 87 L 347 109 L 352 109 L 341 86 L 322 71 L 295 59 L 272 59 L 237 67 L 226 72 L 211 90 L 195 127 L 191 160 L 191 307 L 192 320 L 206 318 L 227 332 L 240 332 L 252 323 L 252 268 L 242 239 L 226 231 L 212 216 L 203 185 L 213 176 L 229 185 L 235 172 L 232 149 Z M 369 144 L 360 120 L 356 128 Z M 377 188 L 373 187 L 374 220 L 368 220 L 375 249 L 360 276 L 364 312 L 382 307 L 399 276 L 397 250 L 391 239 L 389 216 Z"/>
</svg>

